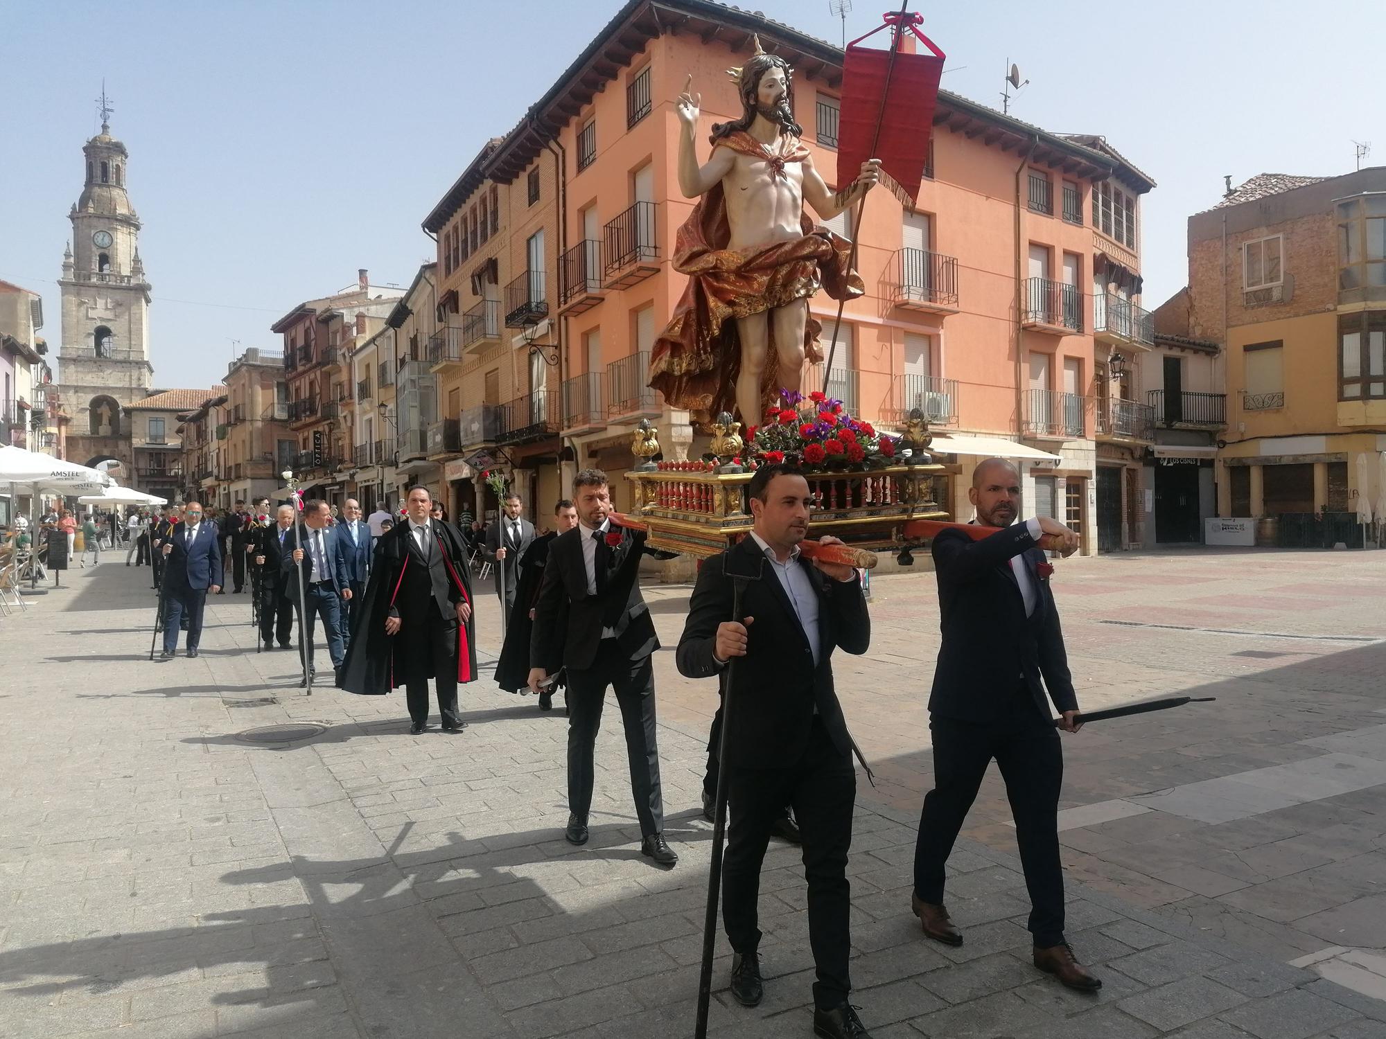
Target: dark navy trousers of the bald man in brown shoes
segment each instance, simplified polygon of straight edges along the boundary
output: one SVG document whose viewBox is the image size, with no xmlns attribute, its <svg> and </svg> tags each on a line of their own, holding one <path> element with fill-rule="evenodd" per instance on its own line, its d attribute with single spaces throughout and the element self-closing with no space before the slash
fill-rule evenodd
<svg viewBox="0 0 1386 1039">
<path fill-rule="evenodd" d="M 995 758 L 1016 820 L 1016 842 L 1030 892 L 1035 945 L 1063 942 L 1063 866 L 1059 862 L 1059 790 L 1063 751 L 1053 723 L 1019 690 L 1009 711 L 990 723 L 934 715 L 934 788 L 924 795 L 915 846 L 915 894 L 944 900 L 944 863 Z"/>
</svg>

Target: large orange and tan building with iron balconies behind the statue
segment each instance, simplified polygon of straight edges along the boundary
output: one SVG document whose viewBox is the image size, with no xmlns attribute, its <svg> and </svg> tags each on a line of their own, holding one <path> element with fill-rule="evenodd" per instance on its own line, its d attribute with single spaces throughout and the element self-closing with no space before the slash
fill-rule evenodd
<svg viewBox="0 0 1386 1039">
<path fill-rule="evenodd" d="M 703 447 L 687 414 L 647 388 L 649 350 L 686 281 L 671 266 L 675 236 L 696 202 L 678 188 L 672 103 L 692 73 L 707 161 L 711 125 L 740 116 L 726 68 L 744 61 L 753 33 L 794 69 L 794 115 L 825 180 L 852 179 L 837 170 L 840 48 L 711 0 L 629 0 L 424 222 L 438 238 L 439 313 L 460 330 L 459 409 L 529 395 L 552 435 L 539 450 L 561 461 L 563 483 L 578 467 L 629 468 L 642 417 L 664 457 Z M 879 425 L 922 407 L 937 449 L 959 463 L 958 515 L 969 514 L 974 461 L 1005 453 L 1021 463 L 1026 510 L 1078 526 L 1084 551 L 1098 547 L 1099 489 L 1105 547 L 1139 543 L 1153 434 L 1141 366 L 1127 362 L 1153 345 L 1139 306 L 1139 198 L 1153 181 L 1102 137 L 1046 133 L 955 94 L 940 96 L 933 137 L 913 212 L 877 190 L 862 227 L 832 222 L 859 244 L 866 295 L 836 331 L 836 302 L 811 301 L 825 353 L 837 339 L 833 371 L 811 381 Z M 474 212 L 486 238 L 471 234 Z M 528 314 L 511 321 L 517 285 Z M 452 406 L 439 403 L 439 414 Z M 532 465 L 506 449 L 514 421 L 499 414 L 489 439 L 459 449 Z M 614 483 L 628 504 L 625 481 Z M 521 486 L 543 518 L 561 485 Z"/>
</svg>

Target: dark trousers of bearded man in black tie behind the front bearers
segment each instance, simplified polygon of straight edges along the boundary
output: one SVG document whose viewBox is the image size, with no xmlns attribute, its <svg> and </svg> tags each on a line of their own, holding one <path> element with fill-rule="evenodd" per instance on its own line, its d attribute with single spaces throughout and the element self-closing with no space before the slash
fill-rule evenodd
<svg viewBox="0 0 1386 1039">
<path fill-rule="evenodd" d="M 568 810 L 586 819 L 596 784 L 596 743 L 606 690 L 615 690 L 625 727 L 625 755 L 640 833 L 664 830 L 660 790 L 660 748 L 654 725 L 654 664 L 651 657 L 628 659 L 615 639 L 603 639 L 590 668 L 568 668 Z"/>
</svg>

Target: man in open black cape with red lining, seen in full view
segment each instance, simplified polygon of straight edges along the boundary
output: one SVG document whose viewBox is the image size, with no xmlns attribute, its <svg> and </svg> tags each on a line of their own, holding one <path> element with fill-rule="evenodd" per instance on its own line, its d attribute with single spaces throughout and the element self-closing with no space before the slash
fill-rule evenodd
<svg viewBox="0 0 1386 1039">
<path fill-rule="evenodd" d="M 407 501 L 407 518 L 376 542 L 338 686 L 366 695 L 405 686 L 417 734 L 428 727 L 428 679 L 435 679 L 442 729 L 460 733 L 457 683 L 477 680 L 467 554 L 450 524 L 430 518 L 427 488 L 412 488 Z"/>
</svg>

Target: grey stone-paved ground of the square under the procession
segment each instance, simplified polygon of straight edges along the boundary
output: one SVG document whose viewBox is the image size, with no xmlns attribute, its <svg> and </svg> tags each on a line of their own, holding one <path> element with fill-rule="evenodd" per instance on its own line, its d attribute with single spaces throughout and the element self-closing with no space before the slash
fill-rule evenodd
<svg viewBox="0 0 1386 1039">
<path fill-rule="evenodd" d="M 151 664 L 147 575 L 73 571 L 0 618 L 0 1035 L 692 1035 L 710 683 L 658 655 L 682 856 L 663 871 L 639 855 L 615 711 L 574 849 L 561 711 L 482 682 L 463 736 L 409 736 L 402 697 L 305 697 L 234 594 L 212 600 L 198 659 Z M 951 863 L 966 945 L 909 916 L 937 648 L 920 569 L 876 582 L 870 655 L 837 658 L 880 779 L 861 777 L 850 863 L 872 1035 L 1386 1036 L 1386 553 L 1116 556 L 1062 562 L 1055 583 L 1084 707 L 1217 697 L 1064 741 L 1069 936 L 1106 985 L 1078 996 L 1030 966 L 994 776 Z M 686 597 L 650 592 L 667 646 Z M 322 729 L 241 736 L 290 723 Z M 712 1032 L 807 1036 L 793 848 L 772 846 L 761 891 L 765 1003 L 730 1002 L 719 942 Z"/>
</svg>

